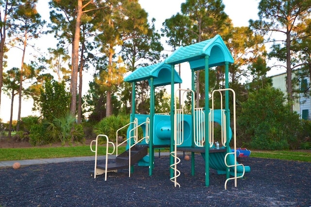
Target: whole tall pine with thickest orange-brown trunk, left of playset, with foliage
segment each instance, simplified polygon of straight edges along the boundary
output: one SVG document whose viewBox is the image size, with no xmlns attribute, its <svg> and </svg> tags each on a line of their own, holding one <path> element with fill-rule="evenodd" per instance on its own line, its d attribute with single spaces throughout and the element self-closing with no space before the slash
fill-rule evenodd
<svg viewBox="0 0 311 207">
<path fill-rule="evenodd" d="M 81 70 L 82 74 L 83 68 L 81 66 L 84 65 L 79 65 L 79 43 L 85 40 L 85 38 L 81 39 L 81 26 L 86 22 L 92 21 L 93 18 L 99 20 L 98 15 L 93 13 L 93 11 L 101 13 L 100 9 L 104 9 L 104 7 L 98 6 L 99 4 L 101 4 L 101 1 L 94 0 L 50 1 L 50 5 L 53 8 L 50 12 L 53 24 L 51 27 L 52 32 L 55 32 L 55 36 L 60 40 L 60 45 L 69 43 L 72 46 L 70 77 L 70 113 L 72 115 L 76 114 L 78 72 Z M 87 16 L 87 14 L 90 14 L 90 16 Z"/>
</svg>

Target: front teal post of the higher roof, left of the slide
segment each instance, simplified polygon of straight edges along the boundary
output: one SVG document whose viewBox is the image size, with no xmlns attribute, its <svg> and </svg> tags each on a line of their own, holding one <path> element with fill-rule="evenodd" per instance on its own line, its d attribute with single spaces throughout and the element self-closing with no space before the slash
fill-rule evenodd
<svg viewBox="0 0 311 207">
<path fill-rule="evenodd" d="M 209 68 L 208 68 L 208 60 L 209 60 L 209 56 L 206 55 L 205 56 L 205 139 L 208 140 L 208 132 L 209 132 L 209 127 L 208 127 L 208 113 L 209 113 L 209 99 L 208 99 L 208 89 L 209 89 L 209 85 L 208 85 L 208 79 L 209 79 Z M 205 186 L 208 187 L 209 186 L 209 144 L 207 142 L 205 142 Z"/>
</svg>

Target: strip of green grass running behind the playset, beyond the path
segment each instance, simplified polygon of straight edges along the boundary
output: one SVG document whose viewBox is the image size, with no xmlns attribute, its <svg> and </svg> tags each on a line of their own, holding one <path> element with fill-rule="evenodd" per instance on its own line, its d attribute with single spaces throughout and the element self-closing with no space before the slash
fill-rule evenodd
<svg viewBox="0 0 311 207">
<path fill-rule="evenodd" d="M 125 147 L 119 148 L 119 154 Z M 162 151 L 162 150 L 161 150 Z M 158 151 L 155 150 L 155 153 Z M 99 155 L 104 155 L 105 147 L 99 147 Z M 0 148 L 0 161 L 23 160 L 23 159 L 47 159 L 47 158 L 69 158 L 94 156 L 90 147 L 67 146 L 67 147 L 30 147 L 30 148 Z M 285 159 L 294 161 L 311 162 L 311 153 L 298 151 L 256 151 L 252 150 L 251 157 L 267 159 Z"/>
</svg>

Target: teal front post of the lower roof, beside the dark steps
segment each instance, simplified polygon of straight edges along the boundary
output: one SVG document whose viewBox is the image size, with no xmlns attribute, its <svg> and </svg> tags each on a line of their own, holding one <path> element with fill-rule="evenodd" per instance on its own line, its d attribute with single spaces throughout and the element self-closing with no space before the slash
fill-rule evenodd
<svg viewBox="0 0 311 207">
<path fill-rule="evenodd" d="M 152 170 L 155 164 L 155 149 L 153 147 L 154 143 L 154 115 L 155 115 L 155 86 L 154 78 L 150 78 L 150 125 L 149 125 L 149 175 L 152 175 Z"/>
</svg>

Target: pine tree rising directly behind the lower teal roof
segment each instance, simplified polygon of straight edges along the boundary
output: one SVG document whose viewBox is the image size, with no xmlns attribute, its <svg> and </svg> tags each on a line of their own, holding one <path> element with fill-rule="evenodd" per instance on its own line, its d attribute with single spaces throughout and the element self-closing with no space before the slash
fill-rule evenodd
<svg viewBox="0 0 311 207">
<path fill-rule="evenodd" d="M 161 51 L 163 47 L 160 43 L 160 34 L 155 31 L 154 21 L 152 19 L 151 25 L 148 23 L 147 13 L 140 8 L 139 4 L 136 4 L 136 10 L 130 10 L 132 20 L 127 24 L 128 32 L 123 35 L 125 40 L 123 41 L 121 55 L 127 66 L 128 71 L 134 71 L 139 66 L 146 66 L 148 64 L 155 64 L 161 60 Z M 139 81 L 137 87 L 141 90 L 138 93 L 137 103 L 139 101 L 144 102 L 142 93 L 148 90 L 149 85 L 144 81 Z M 138 92 L 137 91 L 137 92 Z M 124 83 L 121 91 L 121 101 L 123 102 L 125 109 L 129 113 L 131 111 L 131 84 Z M 127 106 L 130 107 L 127 107 Z M 138 104 L 137 104 L 138 107 Z"/>
</svg>

